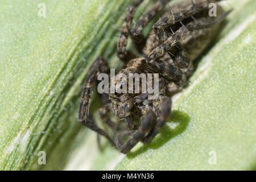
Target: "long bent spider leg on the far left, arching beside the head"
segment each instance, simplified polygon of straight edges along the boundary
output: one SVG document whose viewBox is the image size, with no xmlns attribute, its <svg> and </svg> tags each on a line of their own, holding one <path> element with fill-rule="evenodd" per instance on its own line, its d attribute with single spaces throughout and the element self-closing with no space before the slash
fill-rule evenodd
<svg viewBox="0 0 256 182">
<path fill-rule="evenodd" d="M 78 120 L 82 125 L 88 127 L 89 129 L 95 131 L 97 134 L 104 136 L 109 142 L 117 147 L 114 140 L 109 137 L 108 133 L 105 130 L 100 129 L 97 126 L 96 122 L 90 120 L 93 118 L 89 117 L 89 107 L 90 101 L 92 97 L 93 87 L 96 84 L 97 76 L 100 73 L 108 73 L 109 67 L 106 63 L 106 60 L 102 59 L 102 57 L 98 57 L 93 64 L 90 66 L 88 71 L 88 76 L 85 79 L 84 90 L 82 92 L 81 104 L 79 109 Z"/>
</svg>

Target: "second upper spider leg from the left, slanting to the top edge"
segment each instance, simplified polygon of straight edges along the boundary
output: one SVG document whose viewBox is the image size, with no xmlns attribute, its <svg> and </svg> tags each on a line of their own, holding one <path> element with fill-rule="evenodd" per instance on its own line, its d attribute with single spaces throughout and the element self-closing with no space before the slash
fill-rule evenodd
<svg viewBox="0 0 256 182">
<path fill-rule="evenodd" d="M 170 0 L 159 0 L 158 2 L 156 2 L 155 6 L 152 7 L 152 9 L 150 9 L 146 14 L 139 18 L 138 22 L 131 30 L 131 38 L 133 39 L 134 43 L 139 44 L 143 42 L 143 28 L 147 26 L 148 22 L 155 18 L 155 15 L 157 15 L 161 10 L 163 10 L 163 8 L 169 1 Z"/>
</svg>

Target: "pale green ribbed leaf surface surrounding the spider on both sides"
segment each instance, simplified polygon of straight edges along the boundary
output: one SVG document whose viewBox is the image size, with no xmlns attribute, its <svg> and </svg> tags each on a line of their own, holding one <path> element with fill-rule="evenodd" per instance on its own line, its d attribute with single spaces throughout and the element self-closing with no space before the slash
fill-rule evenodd
<svg viewBox="0 0 256 182">
<path fill-rule="evenodd" d="M 255 168 L 253 0 L 223 2 L 234 11 L 220 40 L 150 145 L 139 143 L 125 156 L 102 139 L 98 151 L 95 133 L 76 121 L 81 85 L 99 55 L 119 67 L 114 35 L 130 2 L 0 2 L 0 169 Z M 38 164 L 39 151 L 46 151 L 46 165 Z M 209 164 L 210 151 L 216 164 Z"/>
</svg>

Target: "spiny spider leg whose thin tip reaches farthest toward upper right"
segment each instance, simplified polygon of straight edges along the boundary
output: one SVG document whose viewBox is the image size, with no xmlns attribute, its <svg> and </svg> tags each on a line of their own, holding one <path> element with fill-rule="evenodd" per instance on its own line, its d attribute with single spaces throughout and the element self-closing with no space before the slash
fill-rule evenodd
<svg viewBox="0 0 256 182">
<path fill-rule="evenodd" d="M 154 59 L 163 56 L 165 52 L 170 51 L 172 47 L 176 46 L 179 43 L 179 40 L 183 39 L 186 36 L 187 32 L 192 32 L 203 28 L 209 28 L 214 24 L 221 22 L 231 11 L 232 10 L 226 11 L 225 13 L 218 16 L 218 18 L 209 23 L 188 23 L 186 26 L 180 27 L 174 35 L 166 40 L 166 42 L 151 51 L 151 53 L 147 56 L 147 63 L 152 64 L 154 62 Z"/>
</svg>

